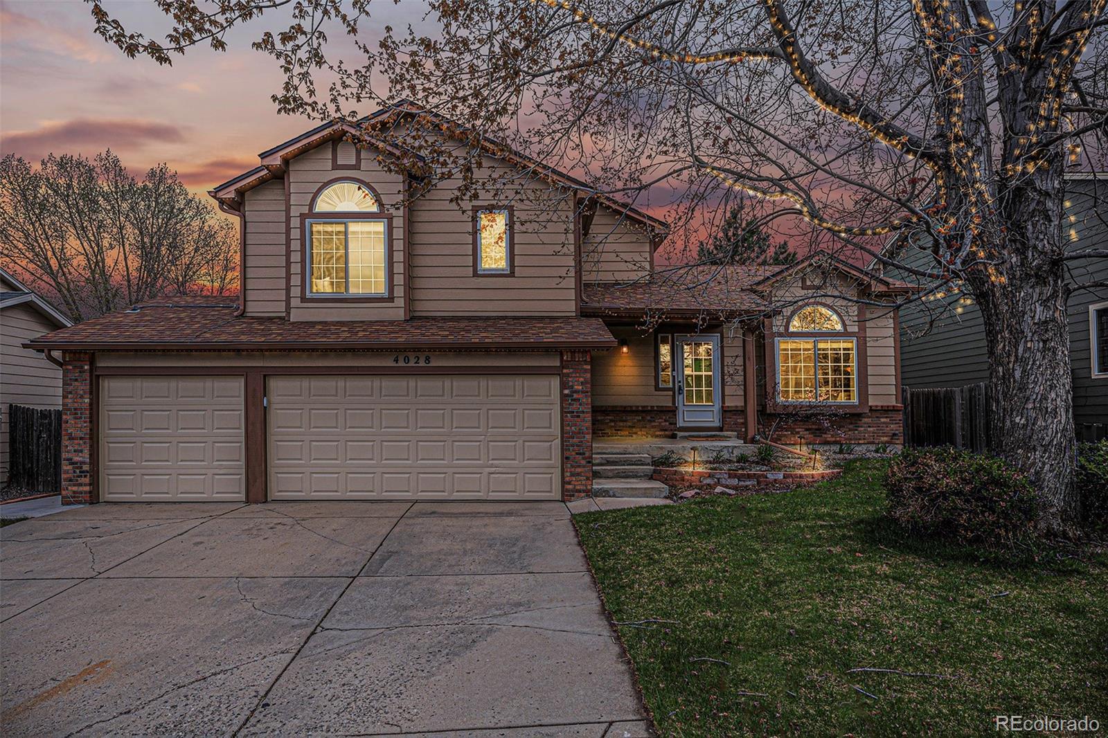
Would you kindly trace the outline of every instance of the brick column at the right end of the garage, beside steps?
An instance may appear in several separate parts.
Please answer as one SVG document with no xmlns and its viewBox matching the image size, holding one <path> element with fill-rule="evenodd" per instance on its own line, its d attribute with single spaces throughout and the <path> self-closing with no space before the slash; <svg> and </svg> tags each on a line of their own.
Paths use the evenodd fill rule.
<svg viewBox="0 0 1108 738">
<path fill-rule="evenodd" d="M 588 351 L 562 351 L 562 499 L 593 493 L 593 375 Z"/>
</svg>

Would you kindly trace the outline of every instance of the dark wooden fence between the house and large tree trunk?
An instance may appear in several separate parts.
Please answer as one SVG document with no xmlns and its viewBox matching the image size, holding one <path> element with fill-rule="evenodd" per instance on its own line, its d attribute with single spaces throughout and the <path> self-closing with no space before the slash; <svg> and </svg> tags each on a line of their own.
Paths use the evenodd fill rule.
<svg viewBox="0 0 1108 738">
<path fill-rule="evenodd" d="M 901 388 L 905 445 L 988 449 L 988 383 L 941 389 Z"/>
</svg>

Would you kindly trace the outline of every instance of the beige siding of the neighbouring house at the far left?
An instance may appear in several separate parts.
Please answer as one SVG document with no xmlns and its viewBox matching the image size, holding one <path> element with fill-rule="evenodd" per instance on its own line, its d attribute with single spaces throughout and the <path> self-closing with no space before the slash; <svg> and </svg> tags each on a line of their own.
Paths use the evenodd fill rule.
<svg viewBox="0 0 1108 738">
<path fill-rule="evenodd" d="M 28 304 L 0 311 L 0 484 L 8 481 L 8 404 L 62 407 L 62 372 L 38 351 L 22 347 L 57 326 Z"/>
</svg>

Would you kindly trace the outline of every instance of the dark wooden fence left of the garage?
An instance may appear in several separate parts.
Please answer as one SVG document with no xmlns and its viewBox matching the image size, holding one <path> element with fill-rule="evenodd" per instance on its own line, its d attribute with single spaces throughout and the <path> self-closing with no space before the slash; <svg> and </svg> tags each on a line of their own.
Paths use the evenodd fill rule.
<svg viewBox="0 0 1108 738">
<path fill-rule="evenodd" d="M 8 482 L 35 492 L 62 489 L 62 411 L 8 406 Z"/>
</svg>

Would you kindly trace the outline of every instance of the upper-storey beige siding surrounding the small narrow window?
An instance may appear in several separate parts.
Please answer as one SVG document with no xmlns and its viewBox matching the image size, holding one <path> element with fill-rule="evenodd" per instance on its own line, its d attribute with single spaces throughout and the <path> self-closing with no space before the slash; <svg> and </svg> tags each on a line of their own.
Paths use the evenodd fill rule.
<svg viewBox="0 0 1108 738">
<path fill-rule="evenodd" d="M 517 172 L 486 160 L 499 182 Z M 536 182 L 510 193 L 450 202 L 459 182 L 439 183 L 411 205 L 412 315 L 573 315 L 574 213 L 571 193 Z M 490 186 L 486 189 L 494 189 Z M 511 276 L 473 275 L 473 206 L 513 208 Z"/>
</svg>

